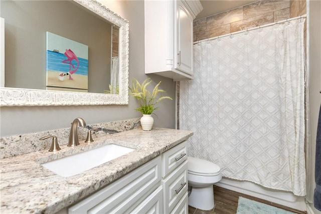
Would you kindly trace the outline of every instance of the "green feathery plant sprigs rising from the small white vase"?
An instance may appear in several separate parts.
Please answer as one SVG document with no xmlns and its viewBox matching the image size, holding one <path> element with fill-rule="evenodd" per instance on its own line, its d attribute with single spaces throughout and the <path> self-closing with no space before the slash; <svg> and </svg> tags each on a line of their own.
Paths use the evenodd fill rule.
<svg viewBox="0 0 321 214">
<path fill-rule="evenodd" d="M 150 78 L 147 78 L 140 85 L 139 82 L 135 78 L 133 78 L 132 88 L 129 87 L 129 90 L 130 90 L 129 94 L 132 97 L 135 97 L 139 103 L 139 107 L 136 108 L 135 110 L 140 111 L 142 114 L 151 114 L 154 110 L 157 109 L 155 105 L 164 99 L 173 100 L 171 97 L 162 96 L 162 94 L 159 94 L 159 97 L 157 97 L 158 93 L 165 92 L 162 89 L 158 89 L 158 86 L 161 84 L 161 81 L 154 87 L 154 89 L 152 90 L 152 93 L 150 93 L 146 89 L 146 87 L 152 82 L 152 81 L 149 81 L 149 79 Z"/>
</svg>

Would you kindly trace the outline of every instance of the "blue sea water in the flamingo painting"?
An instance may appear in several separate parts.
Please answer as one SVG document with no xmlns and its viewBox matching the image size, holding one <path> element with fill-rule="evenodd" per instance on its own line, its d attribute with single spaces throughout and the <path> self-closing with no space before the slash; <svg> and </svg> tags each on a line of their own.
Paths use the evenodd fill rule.
<svg viewBox="0 0 321 214">
<path fill-rule="evenodd" d="M 67 57 L 63 53 L 53 52 L 47 50 L 47 70 L 52 71 L 69 71 L 69 63 L 62 63 L 63 60 L 66 60 Z M 88 76 L 88 60 L 79 58 L 79 68 L 75 74 L 81 74 Z M 72 60 L 71 63 L 77 67 L 76 60 Z"/>
</svg>

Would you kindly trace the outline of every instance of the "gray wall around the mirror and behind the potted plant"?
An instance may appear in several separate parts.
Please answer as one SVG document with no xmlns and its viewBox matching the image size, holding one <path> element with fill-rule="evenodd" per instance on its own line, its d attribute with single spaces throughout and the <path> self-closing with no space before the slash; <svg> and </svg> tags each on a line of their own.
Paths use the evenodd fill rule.
<svg viewBox="0 0 321 214">
<path fill-rule="evenodd" d="M 105 1 L 115 13 L 129 21 L 129 84 L 132 78 L 143 81 L 153 80 L 153 86 L 162 81 L 161 88 L 175 99 L 173 80 L 157 75 L 144 74 L 144 2 Z M 110 6 L 109 6 L 110 4 Z M 129 105 L 109 106 L 41 106 L 41 107 L 1 107 L 1 136 L 68 128 L 76 117 L 82 117 L 87 124 L 123 120 L 140 117 L 134 109 L 137 102 L 129 97 Z M 175 128 L 175 100 L 166 100 L 155 111 L 154 126 Z"/>
</svg>

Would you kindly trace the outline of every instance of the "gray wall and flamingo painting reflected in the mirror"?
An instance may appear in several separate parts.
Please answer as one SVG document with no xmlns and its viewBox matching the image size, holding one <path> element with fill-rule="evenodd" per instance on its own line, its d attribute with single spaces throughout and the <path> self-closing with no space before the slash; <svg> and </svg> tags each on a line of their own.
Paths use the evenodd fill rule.
<svg viewBox="0 0 321 214">
<path fill-rule="evenodd" d="M 71 1 L 2 1 L 1 9 L 6 22 L 5 87 L 82 92 L 87 91 L 88 84 L 88 92 L 92 93 L 103 93 L 108 88 L 111 83 L 111 23 Z M 46 38 L 46 32 L 55 38 Z M 74 44 L 88 46 L 87 59 Z M 69 50 L 73 56 L 78 56 L 80 65 L 69 61 Z M 51 52 L 47 55 L 49 59 L 46 59 L 46 51 Z M 46 63 L 51 57 L 55 57 L 55 66 Z M 84 67 L 87 73 L 82 72 Z M 64 75 L 74 72 L 68 76 L 75 77 L 59 79 L 61 72 Z M 77 87 L 84 78 L 86 86 Z M 46 85 L 46 80 L 52 81 Z"/>
</svg>

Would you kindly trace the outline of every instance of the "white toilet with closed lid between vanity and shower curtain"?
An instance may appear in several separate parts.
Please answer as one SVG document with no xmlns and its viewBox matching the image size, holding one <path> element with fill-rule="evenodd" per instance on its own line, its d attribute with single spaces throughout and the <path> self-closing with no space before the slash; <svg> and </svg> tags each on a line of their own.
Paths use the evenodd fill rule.
<svg viewBox="0 0 321 214">
<path fill-rule="evenodd" d="M 187 157 L 189 206 L 210 210 L 214 208 L 213 184 L 222 179 L 221 168 L 208 160 Z M 192 188 L 191 188 L 192 187 Z"/>
</svg>

